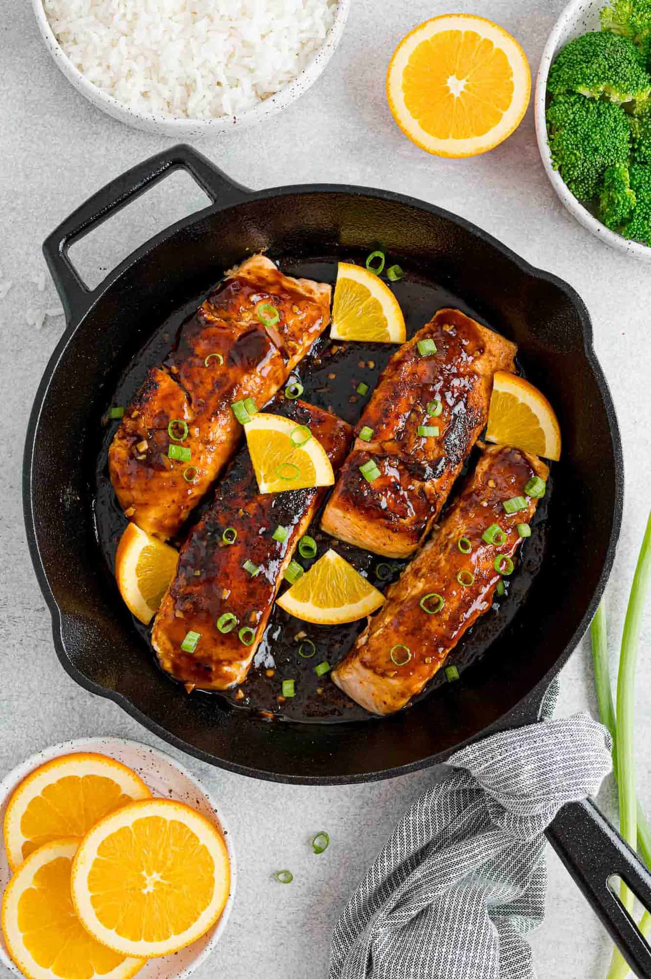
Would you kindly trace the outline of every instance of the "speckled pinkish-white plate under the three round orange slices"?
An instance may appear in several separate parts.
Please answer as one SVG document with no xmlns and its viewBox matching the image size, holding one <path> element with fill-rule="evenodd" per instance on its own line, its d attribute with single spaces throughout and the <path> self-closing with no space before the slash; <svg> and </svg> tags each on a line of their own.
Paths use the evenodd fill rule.
<svg viewBox="0 0 651 979">
<path fill-rule="evenodd" d="M 210 819 L 222 831 L 231 862 L 231 893 L 221 917 L 210 931 L 193 945 L 188 946 L 187 949 L 182 949 L 181 952 L 176 952 L 172 956 L 150 959 L 138 973 L 138 979 L 184 979 L 184 977 L 191 975 L 197 965 L 210 955 L 219 941 L 233 907 L 237 879 L 233 839 L 224 822 L 224 817 L 218 813 L 215 800 L 192 772 L 179 765 L 169 755 L 165 755 L 149 745 L 139 744 L 137 741 L 104 737 L 65 741 L 64 744 L 56 744 L 52 748 L 45 748 L 38 754 L 32 755 L 31 758 L 22 762 L 22 765 L 10 771 L 2 779 L 0 782 L 0 821 L 5 817 L 5 809 L 12 792 L 30 771 L 37 769 L 39 765 L 43 765 L 53 758 L 58 758 L 60 755 L 78 754 L 83 751 L 109 755 L 109 758 L 122 762 L 140 775 L 152 789 L 154 796 L 177 799 L 179 802 L 187 803 L 198 813 Z M 0 846 L 0 898 L 4 893 L 10 875 L 4 847 Z M 1 933 L 0 962 L 11 969 L 15 975 L 22 975 L 9 957 Z"/>
</svg>

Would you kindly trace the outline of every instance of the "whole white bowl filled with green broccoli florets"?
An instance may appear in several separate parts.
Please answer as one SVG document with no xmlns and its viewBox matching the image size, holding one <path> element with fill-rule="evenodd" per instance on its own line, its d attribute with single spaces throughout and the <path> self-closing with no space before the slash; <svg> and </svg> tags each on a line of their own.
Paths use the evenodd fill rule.
<svg viewBox="0 0 651 979">
<path fill-rule="evenodd" d="M 565 207 L 651 261 L 651 0 L 572 0 L 536 83 L 542 163 Z"/>
</svg>

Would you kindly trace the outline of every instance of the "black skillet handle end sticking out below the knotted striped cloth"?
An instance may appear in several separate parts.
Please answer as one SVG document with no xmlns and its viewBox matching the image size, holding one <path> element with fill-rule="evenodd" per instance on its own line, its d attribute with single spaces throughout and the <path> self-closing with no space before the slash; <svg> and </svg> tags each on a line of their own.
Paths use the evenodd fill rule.
<svg viewBox="0 0 651 979">
<path fill-rule="evenodd" d="M 630 968 L 651 979 L 651 949 L 610 882 L 620 876 L 638 901 L 651 909 L 651 873 L 589 801 L 564 806 L 546 835 Z"/>
</svg>

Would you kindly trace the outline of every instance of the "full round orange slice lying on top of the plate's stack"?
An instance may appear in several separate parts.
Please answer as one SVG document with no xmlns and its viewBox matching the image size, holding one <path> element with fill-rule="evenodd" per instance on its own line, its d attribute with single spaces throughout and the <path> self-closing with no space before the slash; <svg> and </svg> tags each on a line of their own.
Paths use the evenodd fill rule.
<svg viewBox="0 0 651 979">
<path fill-rule="evenodd" d="M 79 920 L 98 942 L 122 956 L 167 956 L 212 927 L 231 871 L 212 822 L 184 803 L 149 799 L 91 829 L 70 884 Z"/>
</svg>

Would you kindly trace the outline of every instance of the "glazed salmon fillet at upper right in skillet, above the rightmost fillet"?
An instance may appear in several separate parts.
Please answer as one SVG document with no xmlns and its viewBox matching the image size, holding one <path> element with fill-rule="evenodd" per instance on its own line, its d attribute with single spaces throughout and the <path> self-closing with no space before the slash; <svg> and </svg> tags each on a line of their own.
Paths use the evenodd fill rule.
<svg viewBox="0 0 651 979">
<path fill-rule="evenodd" d="M 434 341 L 435 353 L 418 344 Z M 426 536 L 488 419 L 497 370 L 516 348 L 458 309 L 439 309 L 386 365 L 324 511 L 326 534 L 386 557 L 409 557 Z M 440 403 L 440 413 L 427 406 Z M 438 429 L 433 436 L 418 428 Z M 371 429 L 369 441 L 360 439 Z M 368 433 L 367 433 L 368 434 Z M 360 467 L 374 462 L 372 482 Z"/>
</svg>

